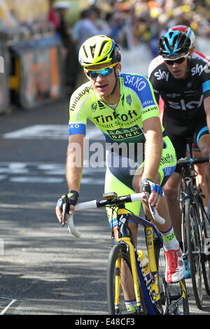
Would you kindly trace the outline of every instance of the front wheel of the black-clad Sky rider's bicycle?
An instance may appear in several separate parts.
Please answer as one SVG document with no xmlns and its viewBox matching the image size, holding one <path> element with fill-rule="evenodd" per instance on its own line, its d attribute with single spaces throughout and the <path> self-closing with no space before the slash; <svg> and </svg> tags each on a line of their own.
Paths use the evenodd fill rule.
<svg viewBox="0 0 210 329">
<path fill-rule="evenodd" d="M 200 216 L 195 202 L 186 199 L 185 206 L 187 254 L 193 293 L 198 309 L 202 309 L 202 236 Z"/>
</svg>

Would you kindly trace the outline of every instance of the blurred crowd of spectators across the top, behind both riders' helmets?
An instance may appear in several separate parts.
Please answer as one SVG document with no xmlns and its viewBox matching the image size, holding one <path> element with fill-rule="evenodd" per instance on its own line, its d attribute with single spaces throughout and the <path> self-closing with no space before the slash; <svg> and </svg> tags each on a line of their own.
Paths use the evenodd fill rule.
<svg viewBox="0 0 210 329">
<path fill-rule="evenodd" d="M 49 36 L 59 40 L 62 48 L 60 62 L 64 66 L 61 75 L 68 96 L 85 78 L 78 64 L 78 50 L 90 36 L 106 34 L 127 52 L 131 50 L 130 54 L 141 45 L 140 59 L 141 55 L 150 59 L 158 55 L 160 36 L 174 25 L 190 26 L 195 36 L 205 38 L 207 45 L 210 37 L 210 0 L 78 0 L 77 6 L 78 3 L 86 4 L 79 16 L 74 12 L 73 0 L 43 2 L 45 15 L 41 12 L 40 17 L 31 23 L 18 19 L 14 9 L 17 7 L 11 10 L 9 1 L 0 0 L 0 50 L 5 45 L 13 57 L 13 45 L 22 43 L 26 52 L 31 47 L 30 41 L 42 39 L 43 47 Z M 73 21 L 69 20 L 69 13 L 71 17 L 75 16 Z M 48 46 L 47 41 L 45 45 Z M 7 55 L 0 55 L 6 61 Z M 206 51 L 204 55 L 209 56 Z"/>
</svg>

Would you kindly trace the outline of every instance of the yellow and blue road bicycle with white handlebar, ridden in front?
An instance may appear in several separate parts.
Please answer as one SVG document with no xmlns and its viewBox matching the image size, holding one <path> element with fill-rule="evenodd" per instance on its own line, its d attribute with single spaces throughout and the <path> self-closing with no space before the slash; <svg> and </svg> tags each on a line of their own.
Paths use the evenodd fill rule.
<svg viewBox="0 0 210 329">
<path fill-rule="evenodd" d="M 109 314 L 130 314 L 125 308 L 125 297 L 133 298 L 134 314 L 165 315 L 189 314 L 188 294 L 185 280 L 168 284 L 165 281 L 165 254 L 162 237 L 151 221 L 134 216 L 125 208 L 125 203 L 141 201 L 141 193 L 118 197 L 116 193 L 103 195 L 100 200 L 76 204 L 76 211 L 99 207 L 113 207 L 118 211 L 119 241 L 113 238 L 113 246 L 109 253 L 106 273 L 106 290 Z M 156 209 L 151 208 L 155 221 L 164 223 Z M 65 218 L 65 209 L 63 211 Z M 151 280 L 144 272 L 139 253 L 132 239 L 128 221 L 132 218 L 143 225 L 148 253 L 148 264 L 151 269 Z M 65 223 L 63 221 L 63 223 Z M 73 216 L 67 216 L 69 232 L 80 237 L 73 223 Z M 126 277 L 126 280 L 125 280 Z M 127 295 L 126 295 L 127 294 Z"/>
</svg>

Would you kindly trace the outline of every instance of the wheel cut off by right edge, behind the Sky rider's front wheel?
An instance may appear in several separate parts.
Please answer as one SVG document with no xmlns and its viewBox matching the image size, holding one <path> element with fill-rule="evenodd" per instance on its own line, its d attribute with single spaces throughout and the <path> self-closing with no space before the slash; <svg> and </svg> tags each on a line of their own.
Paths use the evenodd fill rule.
<svg viewBox="0 0 210 329">
<path fill-rule="evenodd" d="M 204 278 L 204 286 L 207 295 L 210 295 L 210 260 L 204 254 L 204 241 L 209 237 L 207 230 L 207 214 L 204 210 L 204 204 L 202 202 L 201 196 L 199 196 L 198 207 L 200 209 L 201 215 L 201 226 L 202 226 L 202 273 Z"/>
</svg>

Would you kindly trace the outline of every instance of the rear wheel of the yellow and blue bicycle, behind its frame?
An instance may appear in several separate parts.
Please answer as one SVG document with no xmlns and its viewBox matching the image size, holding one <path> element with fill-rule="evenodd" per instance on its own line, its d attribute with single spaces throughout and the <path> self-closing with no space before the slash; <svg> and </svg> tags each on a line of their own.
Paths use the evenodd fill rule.
<svg viewBox="0 0 210 329">
<path fill-rule="evenodd" d="M 167 283 L 165 281 L 165 251 L 156 238 L 154 239 L 154 247 L 164 315 L 189 315 L 190 309 L 185 280 L 182 279 L 177 283 Z"/>
</svg>

